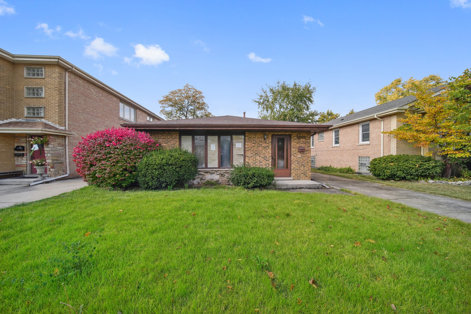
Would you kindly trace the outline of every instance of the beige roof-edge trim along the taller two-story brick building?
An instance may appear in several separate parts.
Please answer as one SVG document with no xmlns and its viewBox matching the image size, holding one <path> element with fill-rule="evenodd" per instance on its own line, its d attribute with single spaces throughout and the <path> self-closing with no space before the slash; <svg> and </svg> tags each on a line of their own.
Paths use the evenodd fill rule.
<svg viewBox="0 0 471 314">
<path fill-rule="evenodd" d="M 4 59 L 7 59 L 8 61 L 13 62 L 13 63 L 59 64 L 60 66 L 62 66 L 63 68 L 65 68 L 67 70 L 72 70 L 72 68 L 73 68 L 73 71 L 71 71 L 71 72 L 73 72 L 74 74 L 80 76 L 82 79 L 84 79 L 86 81 L 89 81 L 90 83 L 98 86 L 101 89 L 106 90 L 110 94 L 118 97 L 120 100 L 123 100 L 124 102 L 128 103 L 129 105 L 134 105 L 134 106 L 138 107 L 140 110 L 144 111 L 145 113 L 147 113 L 151 116 L 154 116 L 156 119 L 159 119 L 161 121 L 164 120 L 162 117 L 160 117 L 157 114 L 153 113 L 152 111 L 148 110 L 146 107 L 143 107 L 142 105 L 139 105 L 138 103 L 136 103 L 132 99 L 124 96 L 123 94 L 121 94 L 117 90 L 112 89 L 111 87 L 109 87 L 108 85 L 103 83 L 102 81 L 97 80 L 96 78 L 91 76 L 89 73 L 81 70 L 80 68 L 76 67 L 75 65 L 71 64 L 70 62 L 68 62 L 67 60 L 63 59 L 60 56 L 13 55 L 13 54 L 9 53 L 8 51 L 3 50 L 3 49 L 0 48 L 0 57 L 2 57 Z"/>
</svg>

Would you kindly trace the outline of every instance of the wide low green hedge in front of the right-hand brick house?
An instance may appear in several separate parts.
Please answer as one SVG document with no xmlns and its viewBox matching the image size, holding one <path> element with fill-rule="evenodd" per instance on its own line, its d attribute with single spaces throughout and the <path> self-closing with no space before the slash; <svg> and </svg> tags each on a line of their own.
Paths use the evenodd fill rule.
<svg viewBox="0 0 471 314">
<path fill-rule="evenodd" d="M 418 180 L 438 176 L 445 164 L 421 155 L 386 155 L 370 161 L 368 169 L 380 179 Z"/>
</svg>

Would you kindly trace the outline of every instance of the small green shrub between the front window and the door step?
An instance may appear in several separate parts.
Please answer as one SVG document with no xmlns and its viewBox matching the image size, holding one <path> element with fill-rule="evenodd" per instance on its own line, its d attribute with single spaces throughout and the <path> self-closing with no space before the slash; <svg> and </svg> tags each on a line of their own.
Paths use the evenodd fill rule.
<svg viewBox="0 0 471 314">
<path fill-rule="evenodd" d="M 245 188 L 268 186 L 275 179 L 272 168 L 252 167 L 249 164 L 233 166 L 229 180 L 233 185 Z"/>
</svg>

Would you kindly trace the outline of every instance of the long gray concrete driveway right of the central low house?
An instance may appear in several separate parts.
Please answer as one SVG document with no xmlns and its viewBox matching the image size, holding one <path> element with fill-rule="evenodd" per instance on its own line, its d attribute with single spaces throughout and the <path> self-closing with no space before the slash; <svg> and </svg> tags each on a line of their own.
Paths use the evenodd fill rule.
<svg viewBox="0 0 471 314">
<path fill-rule="evenodd" d="M 335 188 L 347 189 L 367 196 L 395 201 L 416 209 L 471 223 L 471 202 L 468 201 L 455 200 L 445 196 L 414 192 L 397 187 L 326 175 L 323 173 L 312 173 L 311 177 L 323 184 L 327 181 L 329 186 Z"/>
</svg>

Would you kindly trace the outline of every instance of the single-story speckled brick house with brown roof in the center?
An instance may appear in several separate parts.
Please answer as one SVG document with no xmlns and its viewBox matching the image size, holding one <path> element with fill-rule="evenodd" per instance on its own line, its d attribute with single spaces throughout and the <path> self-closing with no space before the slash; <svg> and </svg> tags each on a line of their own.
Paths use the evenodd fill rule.
<svg viewBox="0 0 471 314">
<path fill-rule="evenodd" d="M 124 123 L 163 147 L 180 146 L 199 160 L 194 184 L 228 183 L 231 165 L 275 167 L 275 177 L 310 180 L 309 139 L 325 125 L 236 116 Z"/>
</svg>

